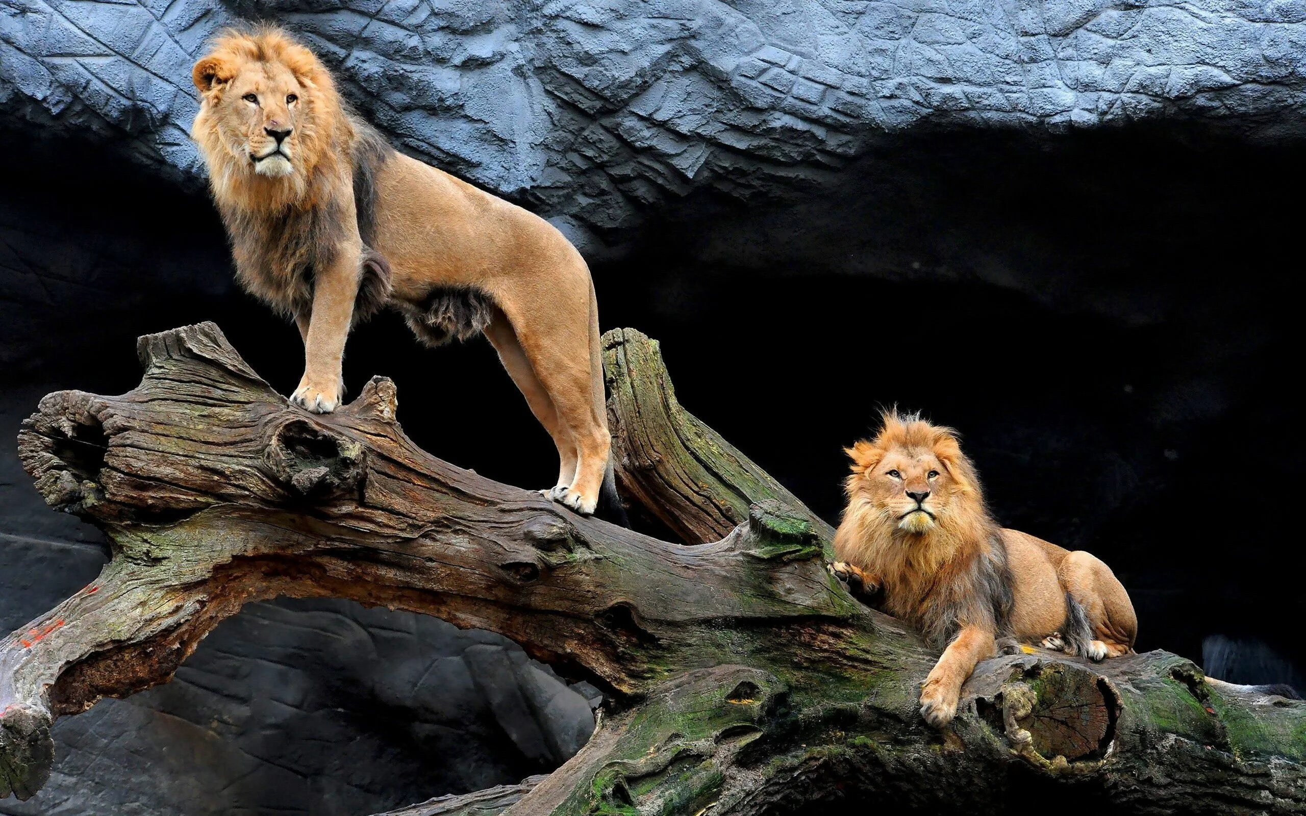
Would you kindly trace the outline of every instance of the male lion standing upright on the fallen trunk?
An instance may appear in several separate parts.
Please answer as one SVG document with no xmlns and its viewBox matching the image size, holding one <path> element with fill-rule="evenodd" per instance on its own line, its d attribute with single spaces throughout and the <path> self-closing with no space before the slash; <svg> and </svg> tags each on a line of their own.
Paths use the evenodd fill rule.
<svg viewBox="0 0 1306 816">
<path fill-rule="evenodd" d="M 615 503 L 594 286 L 562 232 L 393 150 L 279 29 L 223 33 L 192 78 L 238 278 L 303 336 L 291 401 L 341 403 L 350 326 L 385 304 L 431 346 L 485 333 L 558 447 L 545 495 Z"/>
</svg>

